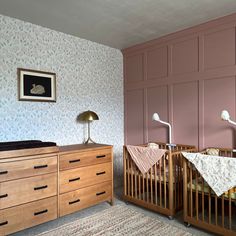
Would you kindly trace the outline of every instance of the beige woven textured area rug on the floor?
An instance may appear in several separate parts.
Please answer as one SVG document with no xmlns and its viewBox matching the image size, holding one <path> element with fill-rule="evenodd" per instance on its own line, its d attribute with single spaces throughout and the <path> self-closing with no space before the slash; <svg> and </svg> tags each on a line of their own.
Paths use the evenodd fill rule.
<svg viewBox="0 0 236 236">
<path fill-rule="evenodd" d="M 159 219 L 146 216 L 125 205 L 116 205 L 92 216 L 62 225 L 40 236 L 140 236 L 192 235 Z"/>
</svg>

